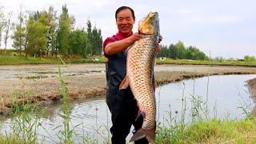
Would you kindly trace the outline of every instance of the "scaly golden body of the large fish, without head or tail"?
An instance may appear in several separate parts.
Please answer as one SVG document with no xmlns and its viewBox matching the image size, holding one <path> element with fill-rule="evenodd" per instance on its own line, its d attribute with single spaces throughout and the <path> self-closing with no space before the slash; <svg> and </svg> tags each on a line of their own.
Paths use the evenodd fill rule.
<svg viewBox="0 0 256 144">
<path fill-rule="evenodd" d="M 155 98 L 153 89 L 154 58 L 158 36 L 142 36 L 134 43 L 127 56 L 127 75 L 130 88 L 146 117 L 142 128 L 155 128 Z"/>
</svg>

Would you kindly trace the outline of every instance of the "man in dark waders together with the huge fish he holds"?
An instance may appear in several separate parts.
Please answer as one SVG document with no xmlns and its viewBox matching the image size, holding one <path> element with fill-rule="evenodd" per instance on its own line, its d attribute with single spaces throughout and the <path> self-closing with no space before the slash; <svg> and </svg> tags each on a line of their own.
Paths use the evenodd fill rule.
<svg viewBox="0 0 256 144">
<path fill-rule="evenodd" d="M 103 52 L 106 62 L 106 103 L 113 126 L 111 142 L 126 143 L 130 126 L 131 142 L 154 143 L 155 100 L 154 58 L 161 49 L 158 13 L 150 13 L 133 33 L 134 10 L 121 6 L 115 13 L 118 34 L 106 38 Z M 128 56 L 127 56 L 128 55 Z"/>
</svg>

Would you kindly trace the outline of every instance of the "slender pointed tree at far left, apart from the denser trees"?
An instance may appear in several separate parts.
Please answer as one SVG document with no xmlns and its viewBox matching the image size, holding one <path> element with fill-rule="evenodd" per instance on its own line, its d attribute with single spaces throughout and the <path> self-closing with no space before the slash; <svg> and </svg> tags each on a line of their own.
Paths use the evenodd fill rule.
<svg viewBox="0 0 256 144">
<path fill-rule="evenodd" d="M 25 14 L 22 12 L 22 6 L 20 6 L 20 12 L 18 14 L 18 24 L 14 26 L 14 34 L 12 35 L 13 47 L 19 51 L 19 54 L 22 55 L 22 50 L 26 49 L 26 27 L 24 26 L 24 19 L 26 18 Z"/>
</svg>

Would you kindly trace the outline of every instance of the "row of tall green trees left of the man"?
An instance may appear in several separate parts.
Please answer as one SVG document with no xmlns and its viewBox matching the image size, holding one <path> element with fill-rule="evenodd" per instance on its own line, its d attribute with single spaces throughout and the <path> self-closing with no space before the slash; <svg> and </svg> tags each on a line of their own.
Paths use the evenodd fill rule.
<svg viewBox="0 0 256 144">
<path fill-rule="evenodd" d="M 11 23 L 9 13 L 6 17 L 0 7 L 0 40 L 4 34 L 4 50 L 8 38 L 13 39 L 12 46 L 20 54 L 25 51 L 28 55 L 42 58 L 86 58 L 88 54 L 102 54 L 102 31 L 96 26 L 92 27 L 90 19 L 86 22 L 86 28 L 75 29 L 75 18 L 69 14 L 66 5 L 62 6 L 62 13 L 57 16 L 53 6 L 42 11 L 20 11 L 18 23 Z M 10 30 L 13 34 L 9 36 Z M 0 42 L 1 47 L 1 42 Z"/>
</svg>

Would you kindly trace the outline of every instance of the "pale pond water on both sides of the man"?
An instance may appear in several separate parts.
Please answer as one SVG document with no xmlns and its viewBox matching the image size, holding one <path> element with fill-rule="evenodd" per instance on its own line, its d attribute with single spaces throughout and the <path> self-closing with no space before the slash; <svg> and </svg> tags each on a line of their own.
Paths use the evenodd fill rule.
<svg viewBox="0 0 256 144">
<path fill-rule="evenodd" d="M 200 105 L 202 110 L 199 111 L 204 114 L 206 104 L 203 103 L 206 103 L 207 98 L 210 118 L 244 118 L 246 115 L 238 107 L 254 108 L 253 100 L 245 85 L 247 80 L 255 77 L 255 74 L 210 76 L 158 86 L 156 90 L 157 119 L 159 122 L 165 122 L 165 118 L 170 117 L 170 112 L 180 118 L 182 98 L 183 102 L 186 102 L 186 122 L 191 119 L 192 100 L 198 100 L 194 103 L 202 102 Z M 2 132 L 10 131 L 10 122 L 10 118 L 4 120 Z M 56 103 L 47 107 L 47 113 L 41 122 L 42 126 L 38 129 L 39 142 L 58 142 L 58 132 L 63 129 L 62 104 Z M 108 133 L 111 126 L 110 112 L 106 106 L 105 96 L 70 101 L 70 124 L 74 126 L 75 134 L 79 135 L 76 137 L 78 141 L 81 141 L 80 137 L 84 137 L 84 134 L 98 139 L 102 139 L 101 135 L 104 137 L 110 135 Z M 130 136 L 131 134 L 127 139 L 130 139 Z"/>
</svg>

